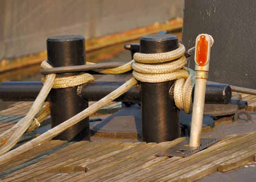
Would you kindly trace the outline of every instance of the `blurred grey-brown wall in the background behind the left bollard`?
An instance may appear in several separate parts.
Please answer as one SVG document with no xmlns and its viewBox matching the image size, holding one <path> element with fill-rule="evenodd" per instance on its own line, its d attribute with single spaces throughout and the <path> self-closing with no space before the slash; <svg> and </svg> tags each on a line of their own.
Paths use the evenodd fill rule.
<svg viewBox="0 0 256 182">
<path fill-rule="evenodd" d="M 46 49 L 46 38 L 86 40 L 183 16 L 180 0 L 0 0 L 0 60 Z"/>
</svg>

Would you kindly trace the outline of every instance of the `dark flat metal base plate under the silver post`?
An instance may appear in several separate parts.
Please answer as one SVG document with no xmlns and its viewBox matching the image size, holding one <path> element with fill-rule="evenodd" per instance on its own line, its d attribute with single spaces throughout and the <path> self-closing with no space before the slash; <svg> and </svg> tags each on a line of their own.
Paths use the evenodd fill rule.
<svg viewBox="0 0 256 182">
<path fill-rule="evenodd" d="M 189 139 L 182 141 L 180 144 L 177 144 L 176 146 L 170 147 L 166 149 L 165 151 L 162 151 L 160 153 L 157 153 L 157 157 L 161 156 L 167 156 L 167 157 L 188 157 L 189 155 L 192 155 L 193 153 L 199 152 L 216 142 L 220 141 L 220 139 L 214 139 L 214 138 L 201 138 L 201 145 L 199 147 L 189 147 Z"/>
</svg>

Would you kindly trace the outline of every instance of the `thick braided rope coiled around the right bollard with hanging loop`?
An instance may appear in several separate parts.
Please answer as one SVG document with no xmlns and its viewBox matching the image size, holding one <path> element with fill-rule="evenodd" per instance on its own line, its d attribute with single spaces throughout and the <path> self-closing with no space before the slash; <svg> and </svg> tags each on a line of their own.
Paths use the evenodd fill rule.
<svg viewBox="0 0 256 182">
<path fill-rule="evenodd" d="M 148 82 L 160 83 L 176 80 L 174 85 L 174 101 L 179 109 L 185 113 L 192 111 L 192 71 L 185 68 L 185 47 L 179 44 L 178 48 L 167 53 L 158 54 L 134 54 L 132 63 L 133 76 L 135 79 Z M 189 74 L 190 73 L 190 74 Z"/>
</svg>

